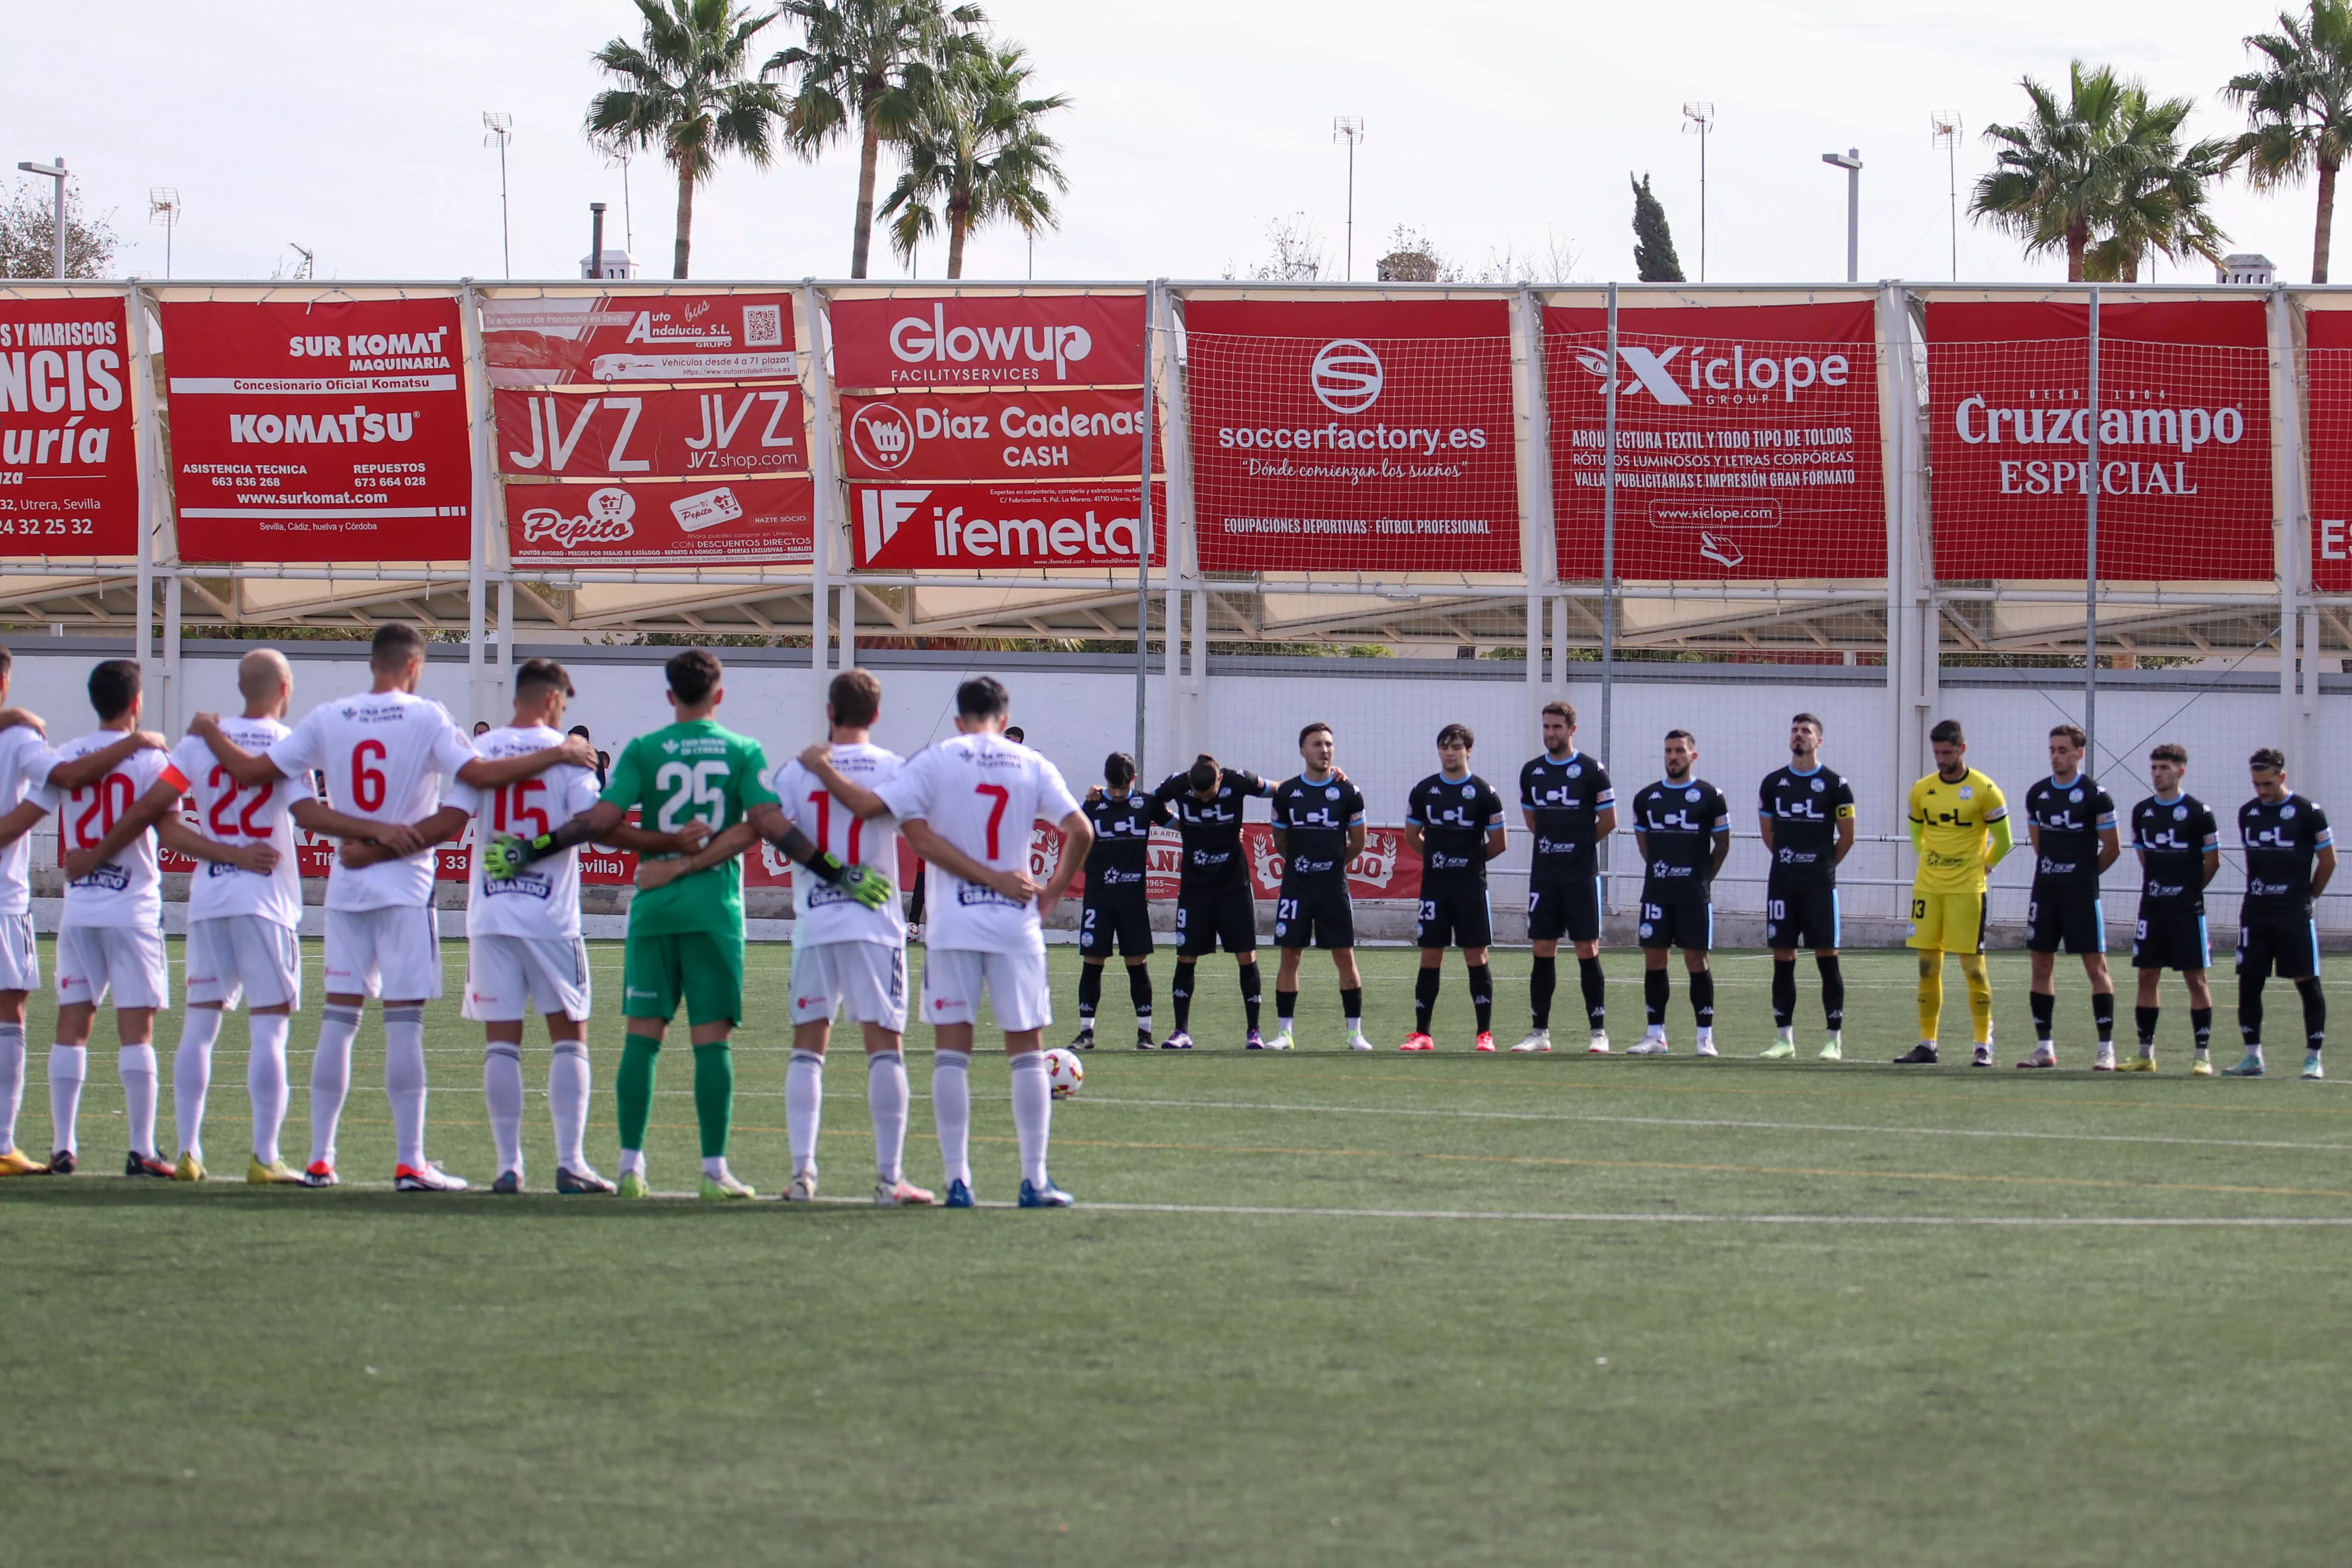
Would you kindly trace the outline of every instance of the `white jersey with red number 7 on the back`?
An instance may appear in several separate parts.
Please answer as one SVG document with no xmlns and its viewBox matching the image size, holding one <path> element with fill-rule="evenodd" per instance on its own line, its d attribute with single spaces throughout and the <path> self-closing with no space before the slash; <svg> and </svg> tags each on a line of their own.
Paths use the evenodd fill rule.
<svg viewBox="0 0 2352 1568">
<path fill-rule="evenodd" d="M 1077 811 L 1061 769 L 985 731 L 927 745 L 875 795 L 901 823 L 920 816 L 948 844 L 1000 872 L 1030 870 L 1030 823 L 1061 823 Z M 1014 903 L 943 865 L 931 865 L 927 875 L 927 947 L 1044 952 L 1035 898 Z"/>
</svg>

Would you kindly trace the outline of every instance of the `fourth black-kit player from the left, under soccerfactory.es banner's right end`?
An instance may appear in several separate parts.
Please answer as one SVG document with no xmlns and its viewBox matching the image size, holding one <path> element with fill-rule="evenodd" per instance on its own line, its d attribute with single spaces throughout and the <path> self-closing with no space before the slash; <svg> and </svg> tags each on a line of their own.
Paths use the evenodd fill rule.
<svg viewBox="0 0 2352 1568">
<path fill-rule="evenodd" d="M 1477 1048 L 1494 1051 L 1494 910 L 1486 905 L 1486 863 L 1503 853 L 1503 797 L 1470 771 L 1468 724 L 1437 731 L 1437 764 L 1414 785 L 1404 806 L 1404 846 L 1421 856 L 1421 973 L 1414 976 L 1414 1032 L 1399 1051 L 1435 1051 L 1430 1013 L 1446 947 L 1470 966 L 1470 1006 Z"/>
</svg>

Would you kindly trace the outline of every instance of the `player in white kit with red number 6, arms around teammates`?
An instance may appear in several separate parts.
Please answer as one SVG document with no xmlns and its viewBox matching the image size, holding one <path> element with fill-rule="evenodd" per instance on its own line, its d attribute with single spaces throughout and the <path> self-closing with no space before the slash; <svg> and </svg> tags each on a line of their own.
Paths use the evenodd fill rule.
<svg viewBox="0 0 2352 1568">
<path fill-rule="evenodd" d="M 327 776 L 327 804 L 360 818 L 393 860 L 336 863 L 327 877 L 327 1009 L 310 1063 L 310 1164 L 303 1185 L 334 1187 L 334 1133 L 350 1093 L 350 1041 L 367 997 L 383 997 L 383 1091 L 393 1103 L 400 1192 L 463 1192 L 466 1182 L 426 1159 L 426 1001 L 442 994 L 440 931 L 433 914 L 433 849 L 416 823 L 440 806 L 440 780 L 499 790 L 557 762 L 590 766 L 583 741 L 489 762 L 449 712 L 416 696 L 426 639 L 407 623 L 376 630 L 369 691 L 320 703 L 268 752 L 249 752 L 212 715 L 193 726 L 221 766 L 245 785 Z"/>
</svg>

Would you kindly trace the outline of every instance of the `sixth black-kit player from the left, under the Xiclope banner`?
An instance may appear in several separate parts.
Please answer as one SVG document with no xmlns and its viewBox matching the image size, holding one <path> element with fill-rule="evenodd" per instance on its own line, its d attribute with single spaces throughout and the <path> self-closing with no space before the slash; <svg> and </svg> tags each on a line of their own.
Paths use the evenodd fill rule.
<svg viewBox="0 0 2352 1568">
<path fill-rule="evenodd" d="M 1724 792 L 1691 773 L 1698 738 L 1686 729 L 1665 731 L 1665 778 L 1632 797 L 1632 832 L 1642 846 L 1642 1001 L 1649 1030 L 1628 1056 L 1665 1056 L 1665 950 L 1682 947 L 1691 971 L 1691 1016 L 1698 1018 L 1698 1053 L 1715 1056 L 1715 872 L 1731 853 L 1731 804 Z"/>
</svg>

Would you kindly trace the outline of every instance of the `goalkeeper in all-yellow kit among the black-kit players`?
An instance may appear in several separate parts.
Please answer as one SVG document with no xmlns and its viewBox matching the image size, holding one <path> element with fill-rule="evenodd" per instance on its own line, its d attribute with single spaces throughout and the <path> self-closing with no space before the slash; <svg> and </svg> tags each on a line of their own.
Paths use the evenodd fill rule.
<svg viewBox="0 0 2352 1568">
<path fill-rule="evenodd" d="M 1910 827 L 1919 851 L 1912 879 L 1912 933 L 1919 950 L 1919 1044 L 1896 1063 L 1936 1060 L 1936 1020 L 1943 1016 L 1943 954 L 1959 957 L 1969 978 L 1969 1023 L 1976 1025 L 1973 1067 L 1992 1065 L 1992 978 L 1985 973 L 1985 872 L 2011 849 L 2009 802 L 2002 785 L 1969 766 L 1959 719 L 1929 731 L 1936 771 L 1912 785 Z"/>
</svg>

